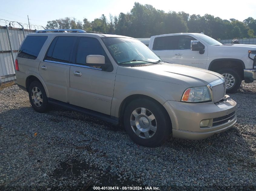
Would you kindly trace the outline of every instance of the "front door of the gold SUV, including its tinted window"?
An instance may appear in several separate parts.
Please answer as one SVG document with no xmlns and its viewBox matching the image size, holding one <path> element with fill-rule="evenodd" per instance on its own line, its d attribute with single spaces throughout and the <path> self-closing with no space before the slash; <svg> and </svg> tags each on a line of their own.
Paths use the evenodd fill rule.
<svg viewBox="0 0 256 191">
<path fill-rule="evenodd" d="M 69 103 L 110 115 L 116 71 L 106 72 L 98 67 L 87 66 L 88 55 L 105 56 L 106 64 L 111 64 L 96 38 L 78 38 L 77 51 L 74 52 L 75 58 L 72 59 L 69 72 Z"/>
</svg>

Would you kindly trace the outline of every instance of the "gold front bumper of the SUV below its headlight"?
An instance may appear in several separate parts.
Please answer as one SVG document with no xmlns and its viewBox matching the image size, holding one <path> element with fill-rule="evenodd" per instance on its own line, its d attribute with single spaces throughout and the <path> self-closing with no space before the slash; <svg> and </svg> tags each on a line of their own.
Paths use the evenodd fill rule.
<svg viewBox="0 0 256 191">
<path fill-rule="evenodd" d="M 236 102 L 228 95 L 226 97 L 226 101 L 217 103 L 165 102 L 164 107 L 172 121 L 173 137 L 198 140 L 231 128 L 237 121 Z M 200 122 L 205 119 L 210 120 L 209 126 L 200 127 Z"/>
</svg>

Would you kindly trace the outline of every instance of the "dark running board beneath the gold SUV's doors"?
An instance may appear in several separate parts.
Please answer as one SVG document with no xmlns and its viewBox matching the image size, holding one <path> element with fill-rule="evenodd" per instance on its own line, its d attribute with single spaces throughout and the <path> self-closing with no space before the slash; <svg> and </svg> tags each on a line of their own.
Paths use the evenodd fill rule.
<svg viewBox="0 0 256 191">
<path fill-rule="evenodd" d="M 104 114 L 104 113 L 100 113 L 100 112 L 89 110 L 89 109 L 86 109 L 86 108 L 83 108 L 83 107 L 71 105 L 69 103 L 58 101 L 58 100 L 55 100 L 55 99 L 52 99 L 52 98 L 48 98 L 48 103 L 63 107 L 67 110 L 72 110 L 72 111 L 77 111 L 77 112 L 80 112 L 80 113 L 84 113 L 85 115 L 92 116 L 92 117 L 101 119 L 103 121 L 107 121 L 107 122 L 114 123 L 114 124 L 119 124 L 119 118 L 114 117 L 114 116 L 110 116 L 110 115 L 107 115 L 107 114 Z"/>
</svg>

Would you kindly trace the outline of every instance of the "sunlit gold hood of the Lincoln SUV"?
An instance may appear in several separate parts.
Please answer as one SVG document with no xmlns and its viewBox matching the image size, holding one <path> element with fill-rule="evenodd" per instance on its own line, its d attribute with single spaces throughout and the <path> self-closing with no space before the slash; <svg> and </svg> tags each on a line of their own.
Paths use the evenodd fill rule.
<svg viewBox="0 0 256 191">
<path fill-rule="evenodd" d="M 117 74 L 179 84 L 185 88 L 204 86 L 223 77 L 209 70 L 168 63 L 135 67 L 120 66 Z"/>
</svg>

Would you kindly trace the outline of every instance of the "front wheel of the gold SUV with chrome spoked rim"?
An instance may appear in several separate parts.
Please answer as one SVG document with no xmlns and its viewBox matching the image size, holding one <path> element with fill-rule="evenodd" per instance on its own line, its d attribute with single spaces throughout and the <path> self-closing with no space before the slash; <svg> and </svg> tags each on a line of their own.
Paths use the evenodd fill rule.
<svg viewBox="0 0 256 191">
<path fill-rule="evenodd" d="M 133 100 L 125 108 L 124 126 L 131 140 L 138 145 L 156 147 L 171 134 L 171 121 L 164 110 L 152 100 Z"/>
</svg>

